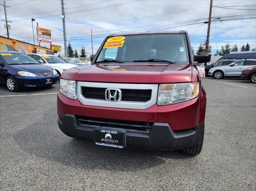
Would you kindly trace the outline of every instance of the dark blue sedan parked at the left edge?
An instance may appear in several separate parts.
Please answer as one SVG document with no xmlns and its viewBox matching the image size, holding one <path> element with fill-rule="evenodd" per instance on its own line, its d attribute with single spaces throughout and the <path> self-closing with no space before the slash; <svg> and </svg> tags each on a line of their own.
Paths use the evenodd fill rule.
<svg viewBox="0 0 256 191">
<path fill-rule="evenodd" d="M 9 91 L 26 87 L 51 86 L 59 82 L 58 73 L 30 56 L 16 51 L 0 51 L 0 83 Z"/>
</svg>

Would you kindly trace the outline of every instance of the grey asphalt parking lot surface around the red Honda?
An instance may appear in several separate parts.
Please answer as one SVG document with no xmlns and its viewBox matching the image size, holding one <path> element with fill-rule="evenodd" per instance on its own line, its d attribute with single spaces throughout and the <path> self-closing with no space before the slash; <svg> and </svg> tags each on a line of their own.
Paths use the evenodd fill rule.
<svg viewBox="0 0 256 191">
<path fill-rule="evenodd" d="M 256 85 L 240 79 L 202 83 L 206 129 L 196 157 L 69 138 L 58 128 L 58 84 L 18 93 L 0 86 L 0 189 L 255 190 Z"/>
</svg>

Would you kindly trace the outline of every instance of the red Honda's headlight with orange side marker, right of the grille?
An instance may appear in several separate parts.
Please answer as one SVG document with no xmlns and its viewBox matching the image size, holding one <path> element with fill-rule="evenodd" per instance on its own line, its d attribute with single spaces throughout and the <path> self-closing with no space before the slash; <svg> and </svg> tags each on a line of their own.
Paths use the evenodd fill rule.
<svg viewBox="0 0 256 191">
<path fill-rule="evenodd" d="M 199 82 L 160 84 L 158 105 L 170 105 L 195 98 L 199 94 Z"/>
</svg>

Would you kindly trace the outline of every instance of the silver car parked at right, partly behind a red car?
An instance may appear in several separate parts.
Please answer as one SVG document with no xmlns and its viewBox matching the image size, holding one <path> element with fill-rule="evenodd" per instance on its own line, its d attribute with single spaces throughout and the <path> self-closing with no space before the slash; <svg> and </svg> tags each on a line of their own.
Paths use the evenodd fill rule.
<svg viewBox="0 0 256 191">
<path fill-rule="evenodd" d="M 215 79 L 222 79 L 224 77 L 240 77 L 242 70 L 251 66 L 256 66 L 256 59 L 238 60 L 227 66 L 214 67 L 209 70 L 208 75 Z"/>
</svg>

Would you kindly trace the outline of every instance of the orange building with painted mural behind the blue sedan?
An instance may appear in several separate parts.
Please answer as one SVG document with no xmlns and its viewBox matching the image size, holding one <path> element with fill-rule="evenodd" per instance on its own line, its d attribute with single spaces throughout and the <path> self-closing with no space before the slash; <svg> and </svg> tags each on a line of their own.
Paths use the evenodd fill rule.
<svg viewBox="0 0 256 191">
<path fill-rule="evenodd" d="M 0 36 L 0 50 L 2 51 L 19 51 L 22 53 L 54 54 L 57 51 L 41 47 L 38 45 L 22 42 L 16 39 Z"/>
</svg>

